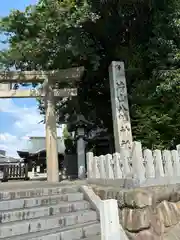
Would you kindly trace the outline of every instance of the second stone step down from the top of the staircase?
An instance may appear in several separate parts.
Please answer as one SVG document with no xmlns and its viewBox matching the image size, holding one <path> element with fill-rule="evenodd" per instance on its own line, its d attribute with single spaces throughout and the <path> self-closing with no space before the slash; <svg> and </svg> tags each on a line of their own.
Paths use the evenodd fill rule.
<svg viewBox="0 0 180 240">
<path fill-rule="evenodd" d="M 62 201 L 75 202 L 81 201 L 83 199 L 83 193 L 80 192 L 64 193 L 52 196 L 40 196 L 34 198 L 20 198 L 14 200 L 0 201 L 0 211 L 54 205 L 59 204 Z"/>
</svg>

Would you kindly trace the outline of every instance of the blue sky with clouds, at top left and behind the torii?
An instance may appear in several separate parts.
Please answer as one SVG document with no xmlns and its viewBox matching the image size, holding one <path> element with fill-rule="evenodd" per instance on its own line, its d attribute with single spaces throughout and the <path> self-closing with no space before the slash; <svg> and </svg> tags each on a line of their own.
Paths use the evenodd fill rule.
<svg viewBox="0 0 180 240">
<path fill-rule="evenodd" d="M 24 10 L 37 0 L 5 0 L 0 7 L 0 16 L 7 16 L 11 10 Z M 2 39 L 3 36 L 0 36 Z M 0 49 L 7 47 L 0 45 Z M 44 136 L 44 125 L 35 99 L 0 99 L 0 149 L 7 155 L 17 157 L 17 150 L 26 147 L 29 136 Z M 61 132 L 58 130 L 58 135 Z"/>
</svg>

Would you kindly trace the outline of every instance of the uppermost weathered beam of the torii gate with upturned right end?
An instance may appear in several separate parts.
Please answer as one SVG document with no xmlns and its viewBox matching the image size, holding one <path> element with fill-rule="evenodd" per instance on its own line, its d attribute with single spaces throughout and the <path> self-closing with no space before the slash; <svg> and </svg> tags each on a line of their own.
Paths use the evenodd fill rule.
<svg viewBox="0 0 180 240">
<path fill-rule="evenodd" d="M 84 67 L 75 67 L 53 71 L 8 71 L 0 72 L 0 82 L 43 82 L 46 79 L 51 82 L 71 82 L 78 81 L 84 72 Z"/>
</svg>

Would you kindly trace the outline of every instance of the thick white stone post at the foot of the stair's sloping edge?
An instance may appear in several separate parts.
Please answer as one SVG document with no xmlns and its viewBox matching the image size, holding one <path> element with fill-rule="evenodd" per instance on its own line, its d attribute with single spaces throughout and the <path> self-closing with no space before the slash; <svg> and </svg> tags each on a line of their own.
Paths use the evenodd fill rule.
<svg viewBox="0 0 180 240">
<path fill-rule="evenodd" d="M 117 200 L 108 199 L 100 203 L 101 240 L 120 240 L 120 223 Z"/>
</svg>

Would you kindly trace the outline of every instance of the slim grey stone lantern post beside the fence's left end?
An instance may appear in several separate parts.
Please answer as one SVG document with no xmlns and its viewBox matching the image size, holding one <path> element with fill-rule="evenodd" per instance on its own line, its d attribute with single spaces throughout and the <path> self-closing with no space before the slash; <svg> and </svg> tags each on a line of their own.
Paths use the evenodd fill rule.
<svg viewBox="0 0 180 240">
<path fill-rule="evenodd" d="M 86 178 L 84 128 L 78 128 L 77 135 L 78 178 L 84 179 Z"/>
</svg>

